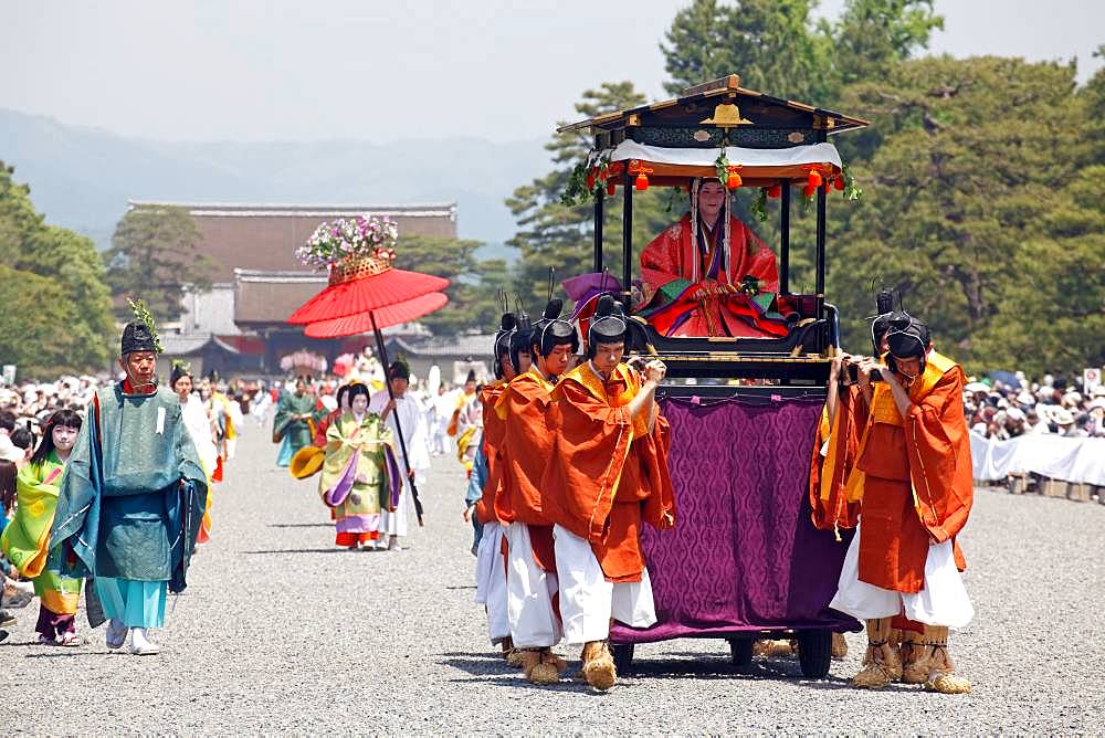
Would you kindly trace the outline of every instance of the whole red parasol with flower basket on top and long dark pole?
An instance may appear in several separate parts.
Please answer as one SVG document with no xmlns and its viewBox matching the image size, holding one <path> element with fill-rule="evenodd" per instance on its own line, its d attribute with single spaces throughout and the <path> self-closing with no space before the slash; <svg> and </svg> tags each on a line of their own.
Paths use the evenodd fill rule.
<svg viewBox="0 0 1105 738">
<path fill-rule="evenodd" d="M 372 331 L 383 366 L 388 352 L 381 328 L 414 320 L 441 308 L 449 302 L 442 292 L 449 280 L 397 270 L 396 244 L 398 225 L 387 218 L 341 218 L 323 223 L 307 242 L 296 249 L 296 257 L 307 266 L 328 270 L 326 288 L 293 313 L 287 321 L 306 326 L 313 338 L 339 338 Z M 385 382 L 391 399 L 391 382 Z M 406 467 L 410 468 L 407 442 L 394 415 L 399 449 Z M 413 477 L 410 479 L 414 512 L 422 523 L 422 503 Z"/>
</svg>

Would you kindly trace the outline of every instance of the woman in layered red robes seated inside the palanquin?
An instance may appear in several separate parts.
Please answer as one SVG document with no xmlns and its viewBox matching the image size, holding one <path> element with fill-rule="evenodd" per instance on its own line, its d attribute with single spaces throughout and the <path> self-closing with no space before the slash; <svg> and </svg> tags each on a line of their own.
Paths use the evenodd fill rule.
<svg viewBox="0 0 1105 738">
<path fill-rule="evenodd" d="M 786 336 L 769 313 L 775 253 L 738 218 L 717 179 L 691 183 L 691 211 L 641 252 L 641 314 L 665 336 Z"/>
</svg>

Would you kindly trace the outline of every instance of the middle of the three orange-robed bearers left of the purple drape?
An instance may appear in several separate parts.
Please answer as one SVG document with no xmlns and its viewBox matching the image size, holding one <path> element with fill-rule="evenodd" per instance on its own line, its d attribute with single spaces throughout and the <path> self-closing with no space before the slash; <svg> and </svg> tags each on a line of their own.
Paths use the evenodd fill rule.
<svg viewBox="0 0 1105 738">
<path fill-rule="evenodd" d="M 548 418 L 552 388 L 579 349 L 575 327 L 560 319 L 561 307 L 560 301 L 549 301 L 532 330 L 529 318 L 519 316 L 518 331 L 529 335 L 534 365 L 507 384 L 495 405 L 505 428 L 495 515 L 505 526 L 507 544 L 507 616 L 514 647 L 523 652 L 526 678 L 534 684 L 555 684 L 564 671 L 564 662 L 551 651 L 562 630 L 555 604 L 552 521 L 541 509 L 540 494 L 552 453 Z"/>
</svg>

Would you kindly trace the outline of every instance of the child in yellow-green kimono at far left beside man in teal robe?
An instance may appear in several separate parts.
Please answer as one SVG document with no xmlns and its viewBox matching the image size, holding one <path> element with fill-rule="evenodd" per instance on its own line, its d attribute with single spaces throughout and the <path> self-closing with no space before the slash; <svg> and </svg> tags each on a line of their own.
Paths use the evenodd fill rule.
<svg viewBox="0 0 1105 738">
<path fill-rule="evenodd" d="M 81 417 L 59 410 L 46 421 L 42 442 L 15 479 L 15 517 L 4 528 L 0 546 L 19 572 L 34 580 L 39 595 L 39 643 L 77 646 L 76 607 L 81 580 L 45 568 L 57 493 L 70 452 L 81 430 Z"/>
</svg>

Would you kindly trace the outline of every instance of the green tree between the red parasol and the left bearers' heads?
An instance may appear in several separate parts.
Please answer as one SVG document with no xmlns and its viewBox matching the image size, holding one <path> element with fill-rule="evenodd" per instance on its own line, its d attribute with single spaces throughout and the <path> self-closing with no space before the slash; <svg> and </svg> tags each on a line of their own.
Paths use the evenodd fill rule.
<svg viewBox="0 0 1105 738">
<path fill-rule="evenodd" d="M 434 334 L 490 333 L 498 325 L 502 310 L 497 295 L 508 282 L 506 262 L 478 259 L 481 245 L 478 241 L 427 235 L 401 239 L 397 267 L 446 277 L 452 283 L 445 291 L 449 305 L 420 318 Z"/>
</svg>

